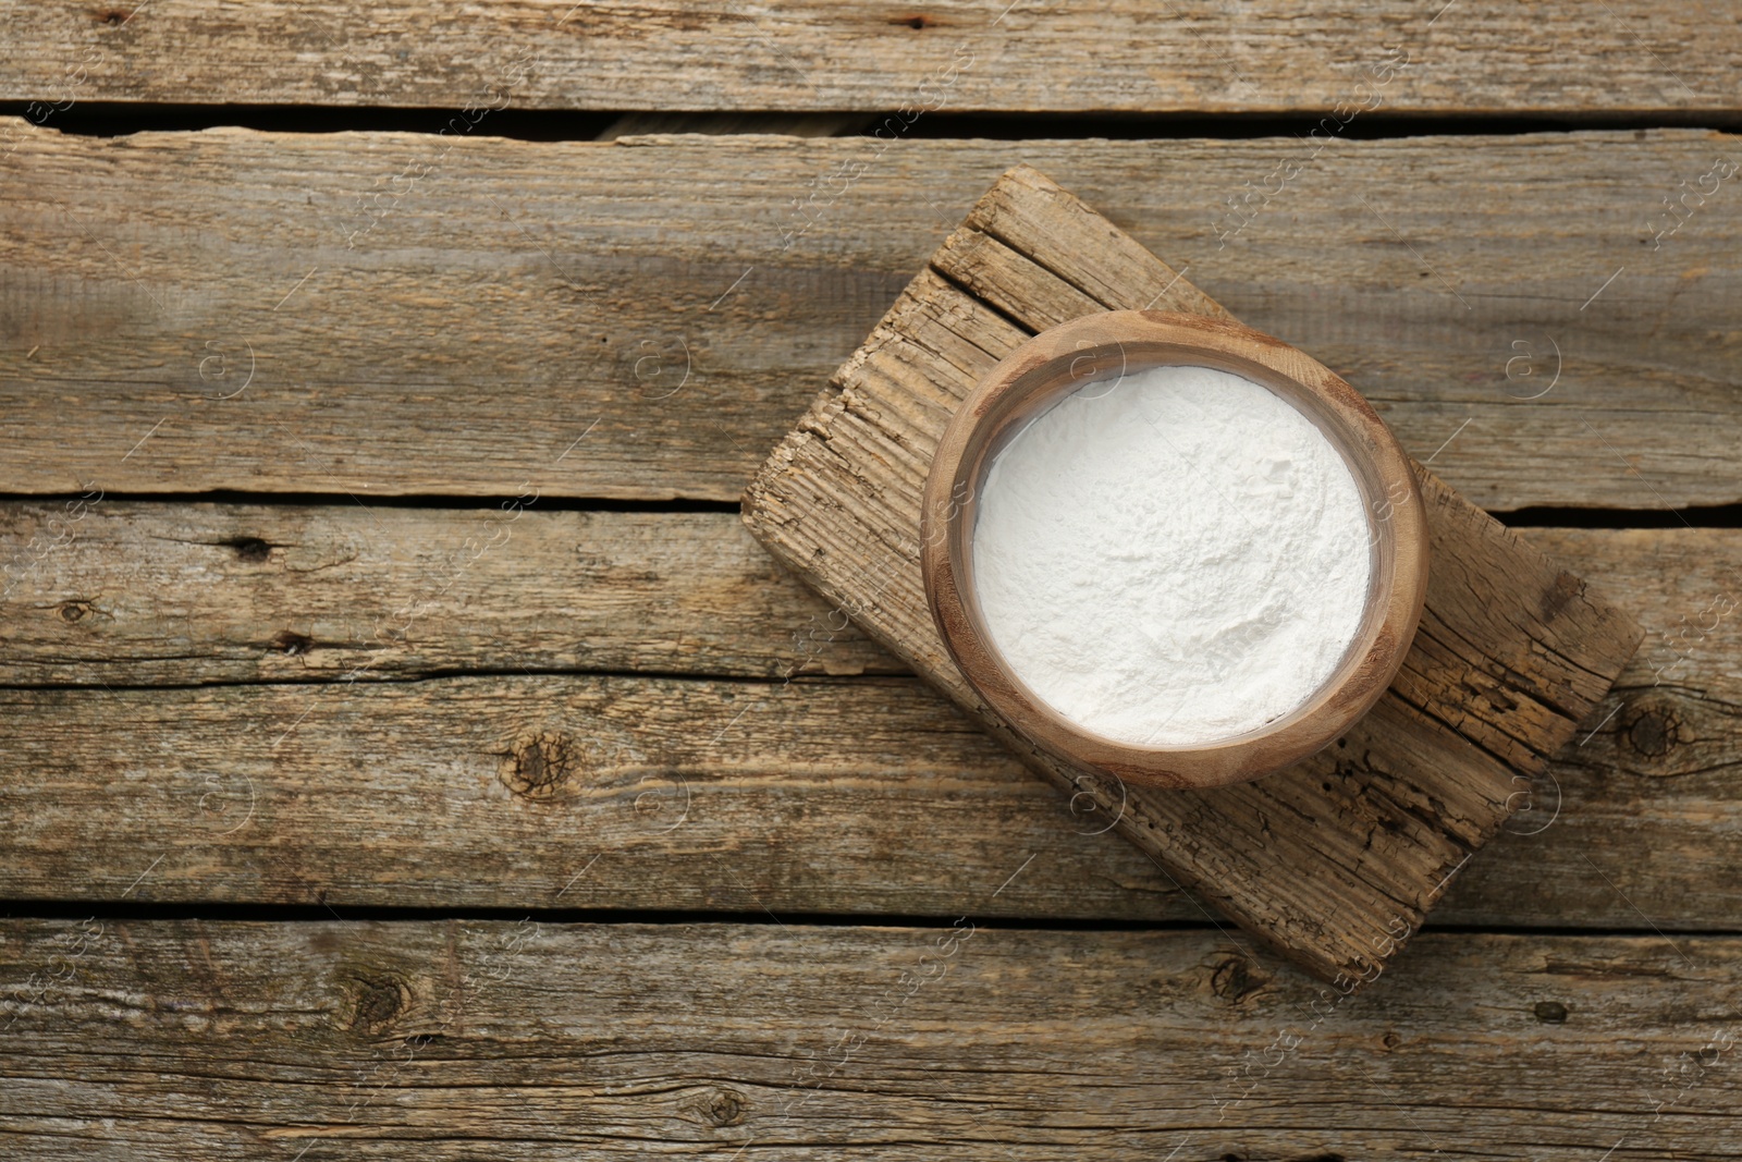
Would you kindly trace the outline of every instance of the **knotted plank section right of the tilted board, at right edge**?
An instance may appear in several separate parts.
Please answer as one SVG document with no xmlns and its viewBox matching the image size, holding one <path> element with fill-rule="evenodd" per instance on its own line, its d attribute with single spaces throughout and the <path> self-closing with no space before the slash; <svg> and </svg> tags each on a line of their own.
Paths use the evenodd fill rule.
<svg viewBox="0 0 1742 1162">
<path fill-rule="evenodd" d="M 1742 916 L 1742 531 L 1523 530 L 1648 627 L 1615 693 L 1456 882 L 1455 923 Z M 1664 916 L 1664 920 L 1658 920 Z"/>
</svg>

